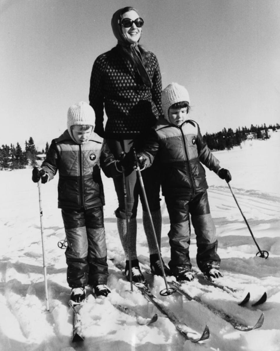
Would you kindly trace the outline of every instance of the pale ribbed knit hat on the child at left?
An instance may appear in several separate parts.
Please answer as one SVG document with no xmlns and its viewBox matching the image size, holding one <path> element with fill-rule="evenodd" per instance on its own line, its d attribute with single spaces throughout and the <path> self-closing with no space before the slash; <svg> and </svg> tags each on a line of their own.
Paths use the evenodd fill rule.
<svg viewBox="0 0 280 351">
<path fill-rule="evenodd" d="M 72 138 L 71 126 L 90 125 L 94 127 L 95 113 L 89 104 L 85 101 L 80 101 L 72 105 L 67 113 L 67 129 Z"/>
</svg>

